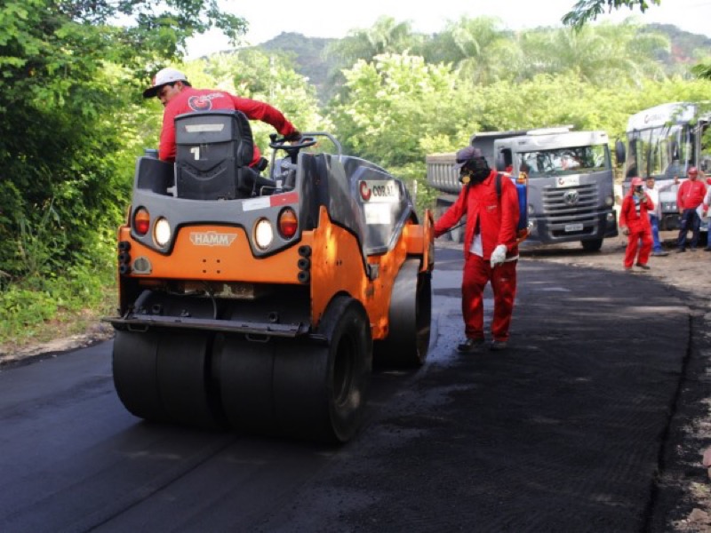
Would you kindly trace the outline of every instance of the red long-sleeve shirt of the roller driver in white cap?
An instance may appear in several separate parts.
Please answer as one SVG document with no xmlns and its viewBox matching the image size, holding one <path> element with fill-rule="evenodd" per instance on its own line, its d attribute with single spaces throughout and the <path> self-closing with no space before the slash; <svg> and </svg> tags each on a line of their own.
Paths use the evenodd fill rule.
<svg viewBox="0 0 711 533">
<path fill-rule="evenodd" d="M 158 157 L 163 161 L 175 161 L 175 117 L 183 113 L 195 111 L 211 111 L 214 109 L 236 109 L 242 111 L 251 120 L 260 120 L 274 126 L 281 135 L 289 135 L 294 131 L 282 112 L 259 100 L 240 98 L 229 92 L 212 89 L 194 89 L 186 86 L 175 96 L 163 113 L 163 130 L 158 147 Z M 260 148 L 254 145 L 254 158 L 251 165 L 259 163 Z"/>
</svg>

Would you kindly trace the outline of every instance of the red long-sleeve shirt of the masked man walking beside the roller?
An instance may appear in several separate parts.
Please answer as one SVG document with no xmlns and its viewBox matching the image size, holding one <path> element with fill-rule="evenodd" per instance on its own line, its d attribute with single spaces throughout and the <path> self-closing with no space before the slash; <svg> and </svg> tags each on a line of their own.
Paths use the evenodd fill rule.
<svg viewBox="0 0 711 533">
<path fill-rule="evenodd" d="M 467 191 L 468 189 L 468 191 Z M 507 257 L 518 255 L 516 227 L 518 226 L 518 193 L 516 186 L 506 176 L 501 177 L 501 198 L 496 192 L 496 171 L 482 183 L 462 187 L 457 201 L 435 223 L 435 236 L 443 235 L 467 215 L 464 230 L 464 257 L 469 257 L 475 228 L 482 234 L 483 259 L 491 259 L 491 252 L 498 244 L 505 244 Z"/>
</svg>

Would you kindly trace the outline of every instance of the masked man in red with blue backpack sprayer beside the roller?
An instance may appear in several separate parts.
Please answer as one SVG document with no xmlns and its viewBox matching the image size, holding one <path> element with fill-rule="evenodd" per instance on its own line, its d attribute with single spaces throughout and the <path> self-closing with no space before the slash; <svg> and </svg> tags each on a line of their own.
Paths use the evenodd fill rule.
<svg viewBox="0 0 711 533">
<path fill-rule="evenodd" d="M 491 320 L 493 339 L 490 348 L 506 347 L 516 293 L 518 245 L 518 194 L 511 179 L 500 179 L 500 197 L 496 171 L 491 171 L 481 150 L 462 148 L 457 152 L 459 176 L 464 187 L 457 201 L 435 223 L 435 236 L 446 233 L 466 216 L 464 230 L 464 277 L 461 308 L 466 340 L 459 352 L 474 352 L 484 342 L 483 290 L 491 282 L 494 313 Z"/>
</svg>

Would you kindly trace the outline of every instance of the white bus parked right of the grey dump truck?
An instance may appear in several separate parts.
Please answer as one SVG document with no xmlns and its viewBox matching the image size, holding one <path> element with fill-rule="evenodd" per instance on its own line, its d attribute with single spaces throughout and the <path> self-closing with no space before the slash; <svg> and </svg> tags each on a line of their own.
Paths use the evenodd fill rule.
<svg viewBox="0 0 711 533">
<path fill-rule="evenodd" d="M 711 173 L 711 132 L 705 135 L 710 119 L 711 115 L 690 102 L 661 104 L 630 116 L 627 143 L 618 141 L 615 146 L 618 163 L 625 163 L 623 193 L 627 194 L 635 176 L 653 176 L 657 187 L 661 187 L 675 176 L 686 179 L 690 166 Z M 659 229 L 679 227 L 676 190 L 673 186 L 659 195 Z M 706 229 L 706 225 L 702 228 Z"/>
</svg>

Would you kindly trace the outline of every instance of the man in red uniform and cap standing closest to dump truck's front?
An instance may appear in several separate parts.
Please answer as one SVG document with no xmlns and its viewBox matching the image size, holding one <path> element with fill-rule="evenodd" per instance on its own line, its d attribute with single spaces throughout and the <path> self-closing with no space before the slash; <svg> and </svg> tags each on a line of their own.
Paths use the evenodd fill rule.
<svg viewBox="0 0 711 533">
<path fill-rule="evenodd" d="M 622 230 L 622 235 L 627 235 L 624 260 L 627 272 L 632 270 L 635 258 L 637 267 L 643 270 L 650 269 L 647 265 L 652 243 L 649 212 L 653 210 L 654 203 L 644 191 L 642 178 L 633 178 L 619 209 L 619 228 Z"/>
</svg>

